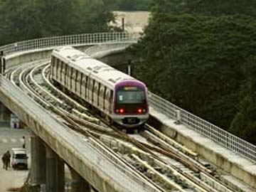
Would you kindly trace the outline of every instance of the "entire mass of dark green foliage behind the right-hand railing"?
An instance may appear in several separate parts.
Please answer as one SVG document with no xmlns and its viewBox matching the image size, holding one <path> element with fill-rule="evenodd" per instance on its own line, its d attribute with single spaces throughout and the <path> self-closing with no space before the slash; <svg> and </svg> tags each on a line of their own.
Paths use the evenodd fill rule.
<svg viewBox="0 0 256 192">
<path fill-rule="evenodd" d="M 144 37 L 131 49 L 135 75 L 167 100 L 256 144 L 253 13 L 239 12 L 244 1 L 229 9 L 222 1 L 180 2 L 154 2 Z"/>
</svg>

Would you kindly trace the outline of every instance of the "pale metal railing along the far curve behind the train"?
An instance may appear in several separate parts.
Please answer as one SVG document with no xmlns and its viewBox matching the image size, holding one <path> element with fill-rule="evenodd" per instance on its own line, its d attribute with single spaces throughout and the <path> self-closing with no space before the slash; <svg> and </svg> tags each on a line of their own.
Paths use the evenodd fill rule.
<svg viewBox="0 0 256 192">
<path fill-rule="evenodd" d="M 1 46 L 0 50 L 5 55 L 25 50 L 35 50 L 41 48 L 50 48 L 55 46 L 79 46 L 95 45 L 107 43 L 136 43 L 137 38 L 132 33 L 90 33 L 71 36 L 54 36 L 48 38 L 36 38 L 28 41 L 19 41 L 6 46 Z"/>
</svg>

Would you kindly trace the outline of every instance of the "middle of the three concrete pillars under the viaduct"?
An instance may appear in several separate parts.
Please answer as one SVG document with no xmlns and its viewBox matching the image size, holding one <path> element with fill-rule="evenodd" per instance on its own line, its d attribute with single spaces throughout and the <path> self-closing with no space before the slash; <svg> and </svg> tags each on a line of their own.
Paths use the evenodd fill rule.
<svg viewBox="0 0 256 192">
<path fill-rule="evenodd" d="M 65 192 L 64 162 L 46 146 L 46 192 Z"/>
</svg>

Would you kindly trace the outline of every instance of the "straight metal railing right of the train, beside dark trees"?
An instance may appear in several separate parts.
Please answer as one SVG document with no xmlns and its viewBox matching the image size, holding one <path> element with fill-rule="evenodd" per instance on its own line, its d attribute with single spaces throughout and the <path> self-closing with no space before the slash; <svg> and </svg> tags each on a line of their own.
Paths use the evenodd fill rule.
<svg viewBox="0 0 256 192">
<path fill-rule="evenodd" d="M 180 113 L 181 118 L 178 119 L 181 124 L 186 125 L 187 127 L 195 130 L 203 134 L 204 136 L 213 140 L 224 146 L 231 151 L 234 151 L 241 156 L 244 156 L 247 159 L 250 159 L 252 162 L 256 163 L 256 146 L 246 142 L 239 137 L 236 137 L 229 132 L 226 132 L 220 127 L 207 122 L 200 117 L 197 117 L 186 110 L 177 107 L 176 105 L 172 104 L 171 102 L 164 100 L 163 98 L 155 95 L 152 92 L 149 92 L 149 102 L 155 110 L 165 114 L 167 117 L 172 119 L 177 119 L 177 112 Z"/>
</svg>

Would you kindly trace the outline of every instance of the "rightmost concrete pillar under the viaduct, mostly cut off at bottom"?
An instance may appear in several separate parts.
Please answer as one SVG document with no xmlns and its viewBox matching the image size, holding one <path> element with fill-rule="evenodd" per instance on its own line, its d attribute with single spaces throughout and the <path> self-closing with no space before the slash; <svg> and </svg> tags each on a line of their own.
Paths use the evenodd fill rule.
<svg viewBox="0 0 256 192">
<path fill-rule="evenodd" d="M 73 183 L 71 184 L 70 192 L 90 192 L 90 184 L 85 181 L 74 169 L 69 167 L 71 177 L 73 178 Z"/>
</svg>

